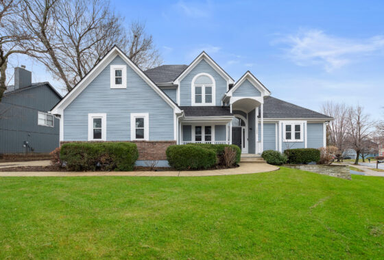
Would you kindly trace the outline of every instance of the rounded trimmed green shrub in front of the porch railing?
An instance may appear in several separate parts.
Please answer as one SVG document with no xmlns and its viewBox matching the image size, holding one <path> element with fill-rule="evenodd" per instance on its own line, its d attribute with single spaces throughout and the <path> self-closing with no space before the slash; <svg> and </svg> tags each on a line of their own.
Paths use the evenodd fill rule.
<svg viewBox="0 0 384 260">
<path fill-rule="evenodd" d="M 217 163 L 213 149 L 191 144 L 168 146 L 166 153 L 169 165 L 176 170 L 208 169 Z"/>
</svg>

